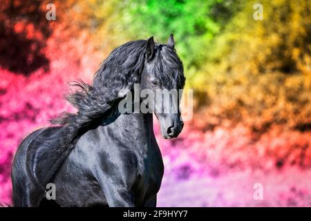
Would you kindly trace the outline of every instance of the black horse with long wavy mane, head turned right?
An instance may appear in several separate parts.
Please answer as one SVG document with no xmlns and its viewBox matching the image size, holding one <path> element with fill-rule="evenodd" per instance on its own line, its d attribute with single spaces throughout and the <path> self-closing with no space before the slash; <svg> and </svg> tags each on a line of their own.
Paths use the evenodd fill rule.
<svg viewBox="0 0 311 221">
<path fill-rule="evenodd" d="M 130 41 L 111 52 L 95 74 L 93 86 L 75 81 L 67 97 L 77 113 L 65 113 L 56 126 L 26 137 L 12 165 L 14 206 L 40 206 L 46 185 L 55 184 L 59 206 L 156 206 L 164 166 L 153 133 L 152 113 L 120 113 L 120 92 L 182 89 L 182 61 L 167 44 Z M 156 113 L 164 138 L 182 131 L 177 113 Z M 142 99 L 139 100 L 142 102 Z M 160 100 L 162 105 L 167 99 Z M 133 100 L 134 104 L 134 100 Z M 159 100 L 154 99 L 155 106 Z"/>
</svg>

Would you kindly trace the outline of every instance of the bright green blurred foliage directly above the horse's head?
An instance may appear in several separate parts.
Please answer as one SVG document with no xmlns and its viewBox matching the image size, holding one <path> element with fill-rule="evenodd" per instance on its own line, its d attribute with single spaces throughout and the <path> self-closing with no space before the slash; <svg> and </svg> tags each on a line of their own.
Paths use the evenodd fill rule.
<svg viewBox="0 0 311 221">
<path fill-rule="evenodd" d="M 220 31 L 220 25 L 211 17 L 211 7 L 219 0 L 129 2 L 126 27 L 132 36 L 154 35 L 165 44 L 173 33 L 186 69 L 198 70 L 204 65 L 207 46 Z"/>
</svg>

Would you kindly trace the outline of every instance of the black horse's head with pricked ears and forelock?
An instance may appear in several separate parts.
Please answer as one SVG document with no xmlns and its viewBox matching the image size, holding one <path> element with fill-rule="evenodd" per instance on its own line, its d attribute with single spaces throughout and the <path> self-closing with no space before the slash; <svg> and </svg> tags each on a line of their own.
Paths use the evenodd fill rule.
<svg viewBox="0 0 311 221">
<path fill-rule="evenodd" d="M 185 77 L 174 46 L 173 35 L 169 36 L 167 44 L 155 44 L 153 37 L 149 38 L 140 77 L 140 90 L 149 91 L 147 105 L 158 118 L 162 136 L 166 139 L 177 137 L 183 127 L 180 97 Z"/>
</svg>

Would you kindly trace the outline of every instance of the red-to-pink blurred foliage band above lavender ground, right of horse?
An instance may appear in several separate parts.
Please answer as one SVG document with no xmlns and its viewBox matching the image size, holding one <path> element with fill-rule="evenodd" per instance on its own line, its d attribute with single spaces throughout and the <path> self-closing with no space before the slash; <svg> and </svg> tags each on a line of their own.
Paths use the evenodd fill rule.
<svg viewBox="0 0 311 221">
<path fill-rule="evenodd" d="M 203 132 L 186 123 L 177 139 L 157 138 L 168 168 L 176 169 L 178 164 L 212 177 L 247 169 L 269 172 L 286 166 L 311 167 L 310 132 L 283 131 L 276 126 L 254 139 L 242 125 Z"/>
</svg>

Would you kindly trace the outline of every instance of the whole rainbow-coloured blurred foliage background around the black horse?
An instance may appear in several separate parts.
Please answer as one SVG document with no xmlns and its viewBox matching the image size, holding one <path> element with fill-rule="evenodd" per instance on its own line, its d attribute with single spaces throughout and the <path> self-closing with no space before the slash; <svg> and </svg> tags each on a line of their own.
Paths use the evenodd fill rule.
<svg viewBox="0 0 311 221">
<path fill-rule="evenodd" d="M 309 0 L 2 0 L 0 202 L 11 203 L 23 137 L 75 111 L 63 99 L 68 81 L 91 83 L 126 41 L 165 43 L 173 33 L 194 117 L 173 140 L 155 126 L 165 165 L 158 206 L 311 206 L 310 10 Z"/>
</svg>

